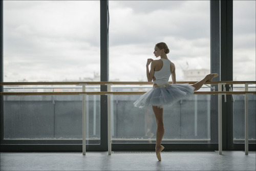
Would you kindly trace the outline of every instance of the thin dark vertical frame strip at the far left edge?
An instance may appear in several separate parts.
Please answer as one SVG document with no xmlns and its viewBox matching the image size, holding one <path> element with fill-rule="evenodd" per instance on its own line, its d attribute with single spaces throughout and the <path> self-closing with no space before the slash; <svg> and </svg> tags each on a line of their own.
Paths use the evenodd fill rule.
<svg viewBox="0 0 256 171">
<path fill-rule="evenodd" d="M 0 12 L 0 22 L 1 22 L 1 28 L 0 28 L 0 47 L 1 47 L 1 50 L 0 50 L 0 82 L 3 82 L 4 81 L 4 56 L 3 56 L 3 11 L 4 11 L 4 8 L 3 8 L 3 1 L 0 1 L 0 8 L 1 8 L 1 12 Z M 0 86 L 0 90 L 1 92 L 4 91 L 4 86 Z M 4 97 L 1 96 L 0 97 L 0 116 L 1 116 L 1 142 L 3 141 L 4 139 Z"/>
</svg>

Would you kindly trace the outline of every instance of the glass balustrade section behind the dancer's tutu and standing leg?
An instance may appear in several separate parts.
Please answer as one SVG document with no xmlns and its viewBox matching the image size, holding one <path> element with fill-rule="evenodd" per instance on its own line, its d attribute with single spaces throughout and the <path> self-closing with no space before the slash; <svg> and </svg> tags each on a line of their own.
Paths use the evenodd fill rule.
<svg viewBox="0 0 256 171">
<path fill-rule="evenodd" d="M 113 91 L 147 91 L 151 86 L 113 88 Z M 208 89 L 208 88 L 203 88 Z M 207 90 L 209 91 L 209 90 Z M 155 143 L 156 119 L 151 107 L 135 108 L 133 103 L 140 95 L 115 95 L 112 102 L 113 143 Z M 211 134 L 217 129 L 211 126 L 211 116 L 218 117 L 210 108 L 210 95 L 193 95 L 172 106 L 164 106 L 163 143 L 215 143 Z"/>
</svg>

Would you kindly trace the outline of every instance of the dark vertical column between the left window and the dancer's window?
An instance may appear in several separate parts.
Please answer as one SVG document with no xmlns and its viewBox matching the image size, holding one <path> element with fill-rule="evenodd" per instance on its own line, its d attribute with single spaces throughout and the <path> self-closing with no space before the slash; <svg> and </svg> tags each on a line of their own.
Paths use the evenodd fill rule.
<svg viewBox="0 0 256 171">
<path fill-rule="evenodd" d="M 100 1 L 100 81 L 109 81 L 109 2 Z M 107 91 L 106 86 L 101 86 L 100 91 Z M 100 149 L 108 150 L 108 99 L 100 96 Z"/>
</svg>

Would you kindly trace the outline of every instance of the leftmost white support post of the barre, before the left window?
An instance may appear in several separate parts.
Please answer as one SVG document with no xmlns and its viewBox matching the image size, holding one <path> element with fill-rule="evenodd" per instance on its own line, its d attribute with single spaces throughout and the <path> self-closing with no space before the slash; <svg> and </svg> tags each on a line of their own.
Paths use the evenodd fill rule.
<svg viewBox="0 0 256 171">
<path fill-rule="evenodd" d="M 86 83 L 81 83 L 82 92 L 86 92 Z M 82 94 L 82 155 L 86 155 L 86 94 Z"/>
</svg>

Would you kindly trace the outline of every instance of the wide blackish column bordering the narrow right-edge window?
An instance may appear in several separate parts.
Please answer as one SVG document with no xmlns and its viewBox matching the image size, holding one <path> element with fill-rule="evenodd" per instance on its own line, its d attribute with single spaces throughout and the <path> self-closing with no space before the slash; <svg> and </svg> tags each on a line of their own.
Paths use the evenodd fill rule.
<svg viewBox="0 0 256 171">
<path fill-rule="evenodd" d="M 220 2 L 220 52 L 221 81 L 233 79 L 233 1 Z M 226 85 L 228 91 L 228 85 Z M 227 150 L 233 137 L 233 106 L 227 95 L 227 102 L 222 99 L 223 150 Z M 228 145 L 229 144 L 229 145 Z"/>
</svg>

